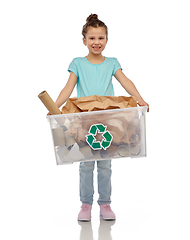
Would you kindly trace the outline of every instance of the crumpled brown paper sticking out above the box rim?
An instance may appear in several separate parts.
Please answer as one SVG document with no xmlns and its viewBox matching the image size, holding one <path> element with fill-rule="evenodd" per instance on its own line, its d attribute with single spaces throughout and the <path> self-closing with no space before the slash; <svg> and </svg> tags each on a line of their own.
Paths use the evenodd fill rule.
<svg viewBox="0 0 190 240">
<path fill-rule="evenodd" d="M 119 109 L 137 107 L 137 98 L 135 96 L 99 96 L 69 98 L 62 108 L 63 114 L 90 112 L 108 109 Z"/>
</svg>

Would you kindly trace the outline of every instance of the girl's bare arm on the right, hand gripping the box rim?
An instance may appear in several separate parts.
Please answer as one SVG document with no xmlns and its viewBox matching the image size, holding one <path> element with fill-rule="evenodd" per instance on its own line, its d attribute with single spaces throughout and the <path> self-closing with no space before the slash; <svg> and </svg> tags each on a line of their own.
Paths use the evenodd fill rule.
<svg viewBox="0 0 190 240">
<path fill-rule="evenodd" d="M 128 79 L 125 74 L 121 71 L 121 69 L 118 69 L 115 73 L 115 78 L 120 82 L 122 87 L 131 95 L 131 96 L 136 96 L 138 100 L 138 105 L 139 106 L 147 106 L 148 107 L 148 112 L 149 112 L 149 105 L 146 103 L 143 98 L 141 97 L 140 93 L 136 89 L 134 83 Z"/>
</svg>

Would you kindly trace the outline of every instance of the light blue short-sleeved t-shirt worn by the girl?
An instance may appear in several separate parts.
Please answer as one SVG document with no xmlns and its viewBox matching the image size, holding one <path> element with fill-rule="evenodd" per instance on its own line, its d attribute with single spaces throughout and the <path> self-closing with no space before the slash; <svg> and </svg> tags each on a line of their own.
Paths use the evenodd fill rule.
<svg viewBox="0 0 190 240">
<path fill-rule="evenodd" d="M 121 68 L 116 58 L 105 57 L 100 64 L 90 63 L 86 57 L 74 58 L 68 71 L 77 76 L 77 96 L 114 96 L 112 76 Z"/>
</svg>

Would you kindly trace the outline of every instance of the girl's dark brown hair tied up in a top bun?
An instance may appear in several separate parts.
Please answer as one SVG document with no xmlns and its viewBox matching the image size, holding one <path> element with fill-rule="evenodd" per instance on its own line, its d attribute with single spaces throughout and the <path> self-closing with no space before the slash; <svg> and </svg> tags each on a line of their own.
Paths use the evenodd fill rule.
<svg viewBox="0 0 190 240">
<path fill-rule="evenodd" d="M 94 28 L 104 27 L 106 30 L 106 38 L 108 38 L 108 28 L 104 22 L 98 19 L 97 14 L 91 14 L 89 17 L 87 17 L 86 24 L 83 26 L 83 29 L 82 29 L 82 35 L 84 38 L 86 38 L 86 34 L 89 27 L 94 27 Z"/>
</svg>

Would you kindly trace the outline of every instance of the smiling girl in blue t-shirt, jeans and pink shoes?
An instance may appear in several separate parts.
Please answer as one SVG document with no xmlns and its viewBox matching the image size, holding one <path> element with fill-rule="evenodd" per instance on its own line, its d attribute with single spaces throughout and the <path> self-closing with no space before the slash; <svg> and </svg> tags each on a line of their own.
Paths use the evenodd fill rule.
<svg viewBox="0 0 190 240">
<path fill-rule="evenodd" d="M 112 76 L 114 76 L 130 95 L 137 97 L 140 106 L 149 108 L 133 82 L 122 72 L 117 59 L 107 58 L 102 55 L 108 42 L 108 29 L 96 14 L 91 14 L 87 18 L 82 29 L 82 35 L 83 43 L 88 48 L 89 53 L 86 57 L 75 58 L 70 63 L 68 69 L 70 76 L 56 100 L 56 105 L 61 107 L 67 101 L 76 84 L 78 97 L 91 95 L 114 96 L 112 85 Z M 94 161 L 80 163 L 80 200 L 82 207 L 78 214 L 79 221 L 91 220 L 94 165 Z M 97 161 L 97 169 L 100 215 L 104 220 L 115 220 L 115 214 L 110 207 L 111 160 Z"/>
</svg>

